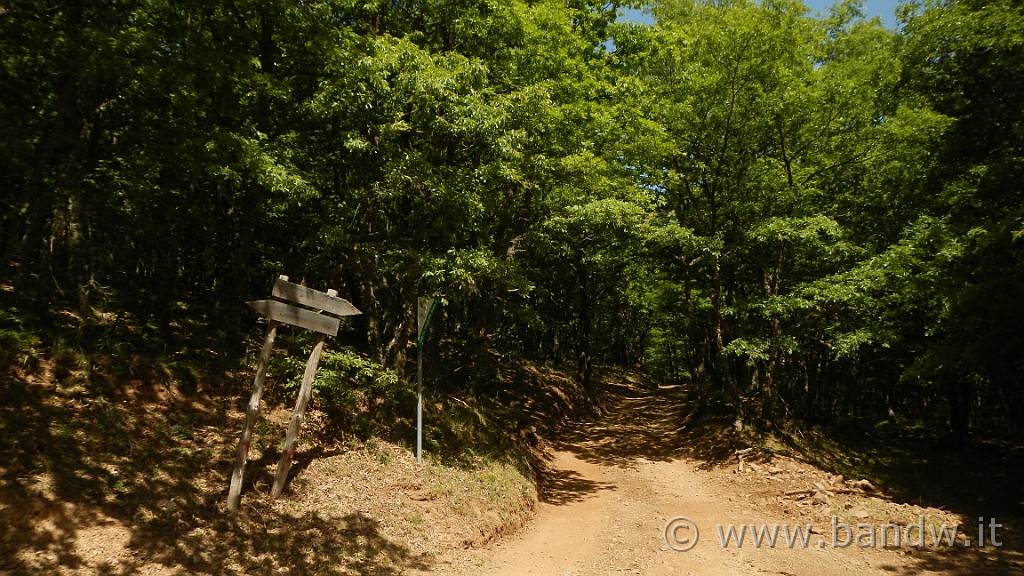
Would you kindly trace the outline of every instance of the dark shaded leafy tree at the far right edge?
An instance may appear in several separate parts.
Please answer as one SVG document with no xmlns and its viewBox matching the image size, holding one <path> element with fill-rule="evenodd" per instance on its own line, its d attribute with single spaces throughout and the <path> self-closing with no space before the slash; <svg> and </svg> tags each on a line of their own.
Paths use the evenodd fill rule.
<svg viewBox="0 0 1024 576">
<path fill-rule="evenodd" d="M 925 187 L 935 199 L 925 263 L 934 303 L 911 373 L 943 392 L 956 438 L 976 405 L 1020 430 L 1024 11 L 1018 2 L 923 3 L 902 17 L 907 88 L 951 119 Z"/>
</svg>

